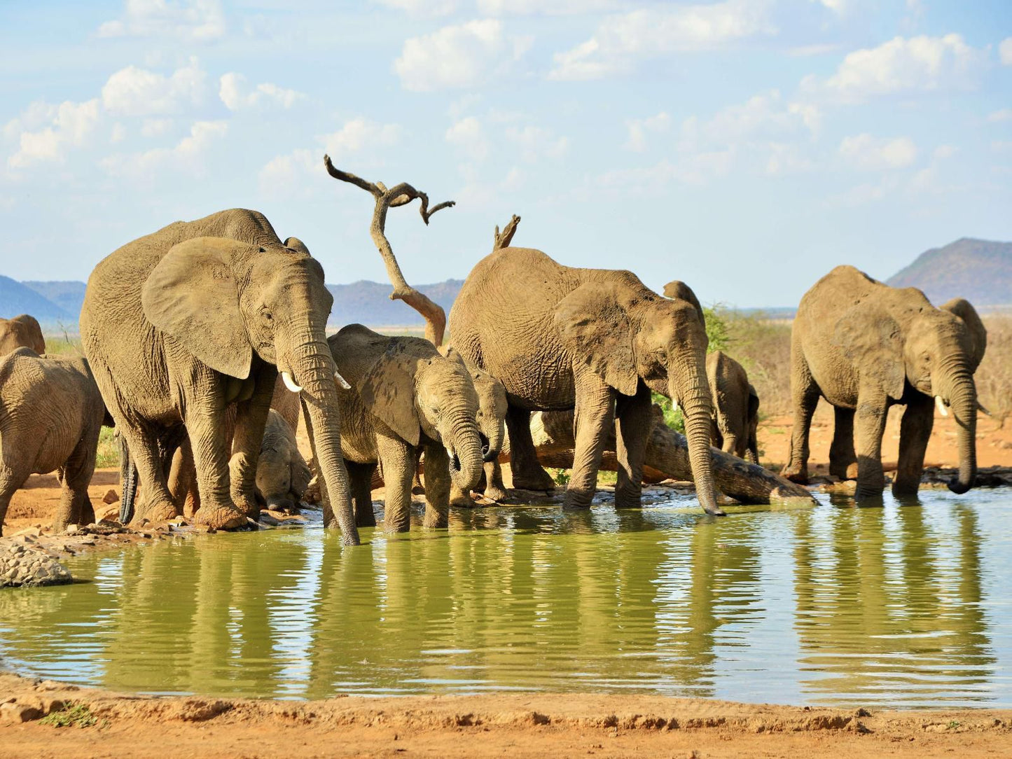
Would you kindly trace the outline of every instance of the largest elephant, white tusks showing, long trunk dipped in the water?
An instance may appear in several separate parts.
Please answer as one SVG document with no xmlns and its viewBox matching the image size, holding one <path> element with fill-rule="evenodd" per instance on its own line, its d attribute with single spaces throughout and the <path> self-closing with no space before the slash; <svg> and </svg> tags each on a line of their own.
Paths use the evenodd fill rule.
<svg viewBox="0 0 1012 759">
<path fill-rule="evenodd" d="M 138 518 L 175 514 L 164 461 L 183 437 L 202 504 L 197 520 L 234 528 L 258 515 L 256 463 L 280 371 L 301 395 L 341 539 L 359 542 L 341 457 L 335 380 L 343 380 L 326 341 L 332 304 L 323 267 L 302 241 L 282 243 L 262 214 L 244 208 L 176 222 L 98 263 L 81 339 L 144 483 Z"/>
</svg>

